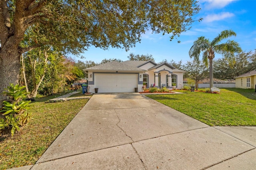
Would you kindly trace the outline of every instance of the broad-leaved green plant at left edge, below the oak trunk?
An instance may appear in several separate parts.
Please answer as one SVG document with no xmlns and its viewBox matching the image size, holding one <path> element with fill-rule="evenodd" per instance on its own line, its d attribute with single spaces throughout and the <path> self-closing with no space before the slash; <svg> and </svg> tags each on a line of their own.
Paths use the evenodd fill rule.
<svg viewBox="0 0 256 170">
<path fill-rule="evenodd" d="M 10 99 L 3 101 L 3 107 L 0 113 L 0 132 L 10 130 L 14 135 L 16 130 L 20 130 L 20 126 L 28 123 L 32 119 L 32 114 L 27 113 L 28 104 L 31 101 L 23 101 L 23 98 L 28 94 L 25 86 L 10 84 L 3 92 Z"/>
</svg>

